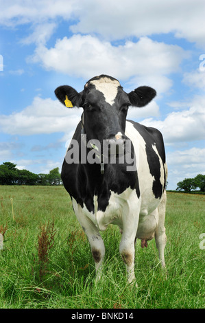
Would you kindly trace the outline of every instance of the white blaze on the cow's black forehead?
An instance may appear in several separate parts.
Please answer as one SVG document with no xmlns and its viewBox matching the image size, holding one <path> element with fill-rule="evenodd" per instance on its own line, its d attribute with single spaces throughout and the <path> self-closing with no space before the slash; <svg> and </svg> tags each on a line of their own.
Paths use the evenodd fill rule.
<svg viewBox="0 0 205 323">
<path fill-rule="evenodd" d="M 104 94 L 107 103 L 112 105 L 117 96 L 117 88 L 120 86 L 118 80 L 110 80 L 110 78 L 99 78 L 92 80 L 91 84 L 95 85 L 95 89 Z"/>
</svg>

